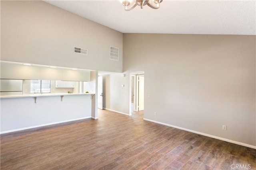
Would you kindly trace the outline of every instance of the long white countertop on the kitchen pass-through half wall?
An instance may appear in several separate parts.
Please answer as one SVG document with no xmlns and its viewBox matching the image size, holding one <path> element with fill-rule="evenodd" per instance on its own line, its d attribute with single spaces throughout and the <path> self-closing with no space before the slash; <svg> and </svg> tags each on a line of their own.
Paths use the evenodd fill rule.
<svg viewBox="0 0 256 170">
<path fill-rule="evenodd" d="M 44 94 L 24 94 L 24 95 L 10 95 L 10 96 L 0 96 L 1 99 L 4 98 L 32 98 L 32 97 L 48 97 L 48 96 L 74 96 L 74 95 L 93 95 L 95 93 L 44 93 Z"/>
</svg>

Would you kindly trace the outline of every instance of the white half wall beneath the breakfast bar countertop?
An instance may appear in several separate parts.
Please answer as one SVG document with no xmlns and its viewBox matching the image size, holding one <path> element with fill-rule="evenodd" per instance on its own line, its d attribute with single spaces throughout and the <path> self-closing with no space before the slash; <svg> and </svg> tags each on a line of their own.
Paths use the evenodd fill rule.
<svg viewBox="0 0 256 170">
<path fill-rule="evenodd" d="M 2 134 L 90 118 L 95 108 L 95 94 L 0 96 L 0 104 Z"/>
</svg>

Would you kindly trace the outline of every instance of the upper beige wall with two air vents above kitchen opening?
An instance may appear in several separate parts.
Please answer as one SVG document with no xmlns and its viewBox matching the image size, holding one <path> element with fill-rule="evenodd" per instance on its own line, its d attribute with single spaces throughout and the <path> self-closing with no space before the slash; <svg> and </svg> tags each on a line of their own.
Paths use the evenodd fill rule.
<svg viewBox="0 0 256 170">
<path fill-rule="evenodd" d="M 44 1 L 0 3 L 2 61 L 122 72 L 122 33 Z M 119 61 L 109 59 L 110 45 Z"/>
</svg>

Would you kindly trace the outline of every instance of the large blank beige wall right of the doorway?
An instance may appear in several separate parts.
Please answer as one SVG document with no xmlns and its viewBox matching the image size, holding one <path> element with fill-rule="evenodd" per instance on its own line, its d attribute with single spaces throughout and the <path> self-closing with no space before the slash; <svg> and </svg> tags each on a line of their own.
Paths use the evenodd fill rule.
<svg viewBox="0 0 256 170">
<path fill-rule="evenodd" d="M 124 34 L 124 71 L 145 72 L 144 118 L 256 146 L 255 40 Z"/>
</svg>

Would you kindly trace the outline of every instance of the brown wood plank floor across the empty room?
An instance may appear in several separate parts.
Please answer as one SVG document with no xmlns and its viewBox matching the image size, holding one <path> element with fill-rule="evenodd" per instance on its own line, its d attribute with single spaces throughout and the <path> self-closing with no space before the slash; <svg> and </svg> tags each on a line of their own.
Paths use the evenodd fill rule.
<svg viewBox="0 0 256 170">
<path fill-rule="evenodd" d="M 1 135 L 1 170 L 256 169 L 256 150 L 99 110 L 86 119 Z"/>
</svg>

